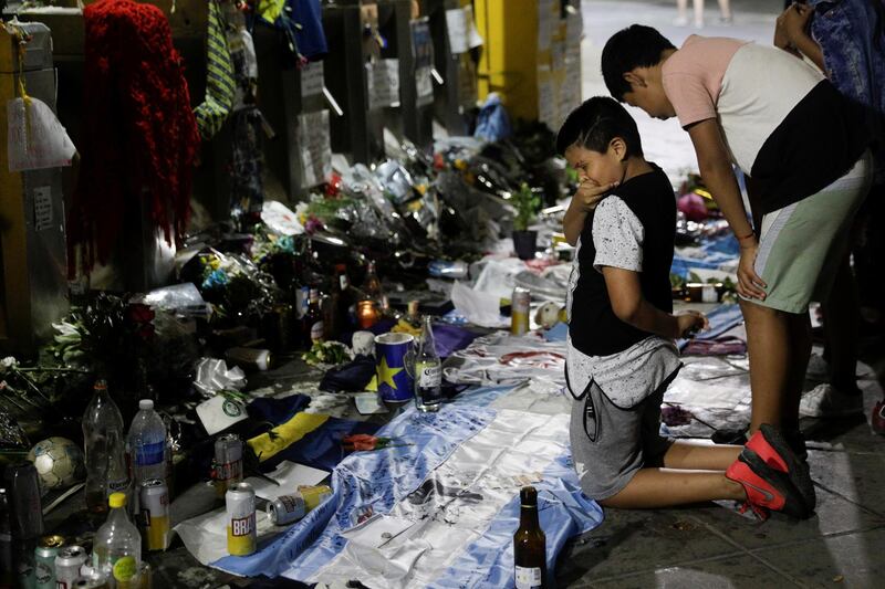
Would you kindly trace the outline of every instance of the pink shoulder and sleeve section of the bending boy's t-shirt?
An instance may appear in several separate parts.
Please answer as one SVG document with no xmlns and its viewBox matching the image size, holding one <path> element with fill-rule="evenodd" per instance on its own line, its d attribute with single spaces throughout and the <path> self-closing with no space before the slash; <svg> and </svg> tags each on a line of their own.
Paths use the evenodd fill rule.
<svg viewBox="0 0 885 589">
<path fill-rule="evenodd" d="M 731 57 L 748 41 L 725 36 L 690 35 L 664 62 L 662 82 L 679 124 L 716 118 L 716 103 Z"/>
</svg>

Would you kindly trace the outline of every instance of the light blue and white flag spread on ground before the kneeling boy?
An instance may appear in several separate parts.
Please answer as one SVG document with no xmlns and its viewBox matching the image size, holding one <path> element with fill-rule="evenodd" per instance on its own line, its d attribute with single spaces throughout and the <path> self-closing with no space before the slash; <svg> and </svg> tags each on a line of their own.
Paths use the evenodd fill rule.
<svg viewBox="0 0 885 589">
<path fill-rule="evenodd" d="M 333 472 L 333 497 L 304 520 L 250 557 L 210 565 L 385 589 L 510 587 L 519 490 L 531 484 L 552 575 L 566 539 L 597 526 L 603 514 L 581 493 L 569 416 L 504 408 L 520 404 L 507 402 L 510 393 L 537 401 L 525 387 L 488 388 L 438 413 L 397 417 L 378 435 L 410 445 L 352 454 Z"/>
</svg>

